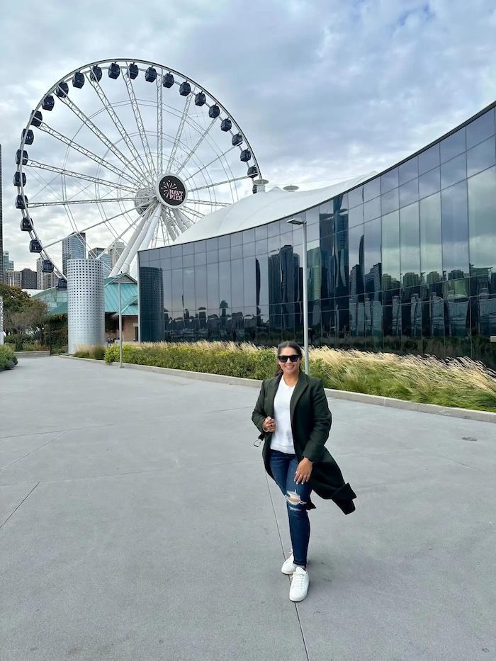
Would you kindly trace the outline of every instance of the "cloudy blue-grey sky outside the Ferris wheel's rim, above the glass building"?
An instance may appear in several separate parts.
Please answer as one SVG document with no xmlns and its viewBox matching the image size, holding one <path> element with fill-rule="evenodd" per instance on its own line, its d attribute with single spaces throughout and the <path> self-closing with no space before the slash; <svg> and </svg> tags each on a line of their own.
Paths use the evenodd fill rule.
<svg viewBox="0 0 496 661">
<path fill-rule="evenodd" d="M 87 62 L 150 60 L 201 81 L 264 176 L 302 188 L 380 171 L 496 96 L 492 0 L 28 0 L 4 4 L 0 21 L 4 249 L 16 269 L 35 266 L 13 208 L 21 130 Z"/>
</svg>

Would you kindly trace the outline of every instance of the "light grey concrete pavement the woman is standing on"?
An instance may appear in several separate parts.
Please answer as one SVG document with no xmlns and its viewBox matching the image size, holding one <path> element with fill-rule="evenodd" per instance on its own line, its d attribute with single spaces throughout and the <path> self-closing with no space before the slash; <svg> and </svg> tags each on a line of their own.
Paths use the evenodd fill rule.
<svg viewBox="0 0 496 661">
<path fill-rule="evenodd" d="M 329 400 L 310 590 L 257 392 L 39 358 L 0 373 L 0 659 L 496 658 L 495 426 Z"/>
</svg>

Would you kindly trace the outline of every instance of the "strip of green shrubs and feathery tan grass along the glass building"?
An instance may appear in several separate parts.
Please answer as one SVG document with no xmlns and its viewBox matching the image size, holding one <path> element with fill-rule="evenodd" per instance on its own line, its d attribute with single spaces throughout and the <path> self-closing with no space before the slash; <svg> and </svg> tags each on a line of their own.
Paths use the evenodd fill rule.
<svg viewBox="0 0 496 661">
<path fill-rule="evenodd" d="M 105 361 L 118 360 L 118 346 L 108 347 Z M 123 361 L 253 379 L 274 376 L 277 364 L 275 349 L 232 342 L 124 344 Z M 334 390 L 496 412 L 496 373 L 470 358 L 323 347 L 310 349 L 310 374 Z"/>
</svg>

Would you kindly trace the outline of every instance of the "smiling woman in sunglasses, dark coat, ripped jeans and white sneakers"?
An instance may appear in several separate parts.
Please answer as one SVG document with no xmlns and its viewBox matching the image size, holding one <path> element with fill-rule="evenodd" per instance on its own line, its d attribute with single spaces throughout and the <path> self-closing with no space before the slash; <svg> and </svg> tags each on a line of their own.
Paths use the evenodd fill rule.
<svg viewBox="0 0 496 661">
<path fill-rule="evenodd" d="M 344 514 L 354 512 L 356 498 L 325 448 L 331 412 L 322 381 L 301 371 L 302 358 L 296 342 L 279 344 L 278 371 L 261 384 L 252 414 L 259 439 L 265 439 L 265 469 L 286 497 L 293 548 L 281 571 L 292 576 L 291 601 L 302 601 L 308 592 L 308 510 L 315 509 L 310 493 L 332 499 Z"/>
</svg>

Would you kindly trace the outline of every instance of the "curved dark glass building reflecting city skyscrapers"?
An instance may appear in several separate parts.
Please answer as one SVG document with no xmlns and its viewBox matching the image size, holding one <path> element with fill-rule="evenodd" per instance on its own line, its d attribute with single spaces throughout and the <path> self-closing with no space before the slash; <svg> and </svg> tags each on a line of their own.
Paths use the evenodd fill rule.
<svg viewBox="0 0 496 661">
<path fill-rule="evenodd" d="M 215 227 L 205 217 L 176 244 L 140 252 L 142 341 L 303 343 L 302 230 L 287 222 L 297 216 L 308 228 L 310 344 L 495 368 L 495 106 L 317 205 L 284 193 L 295 209 L 281 205 L 277 220 L 230 234 L 220 223 L 193 240 Z"/>
</svg>

